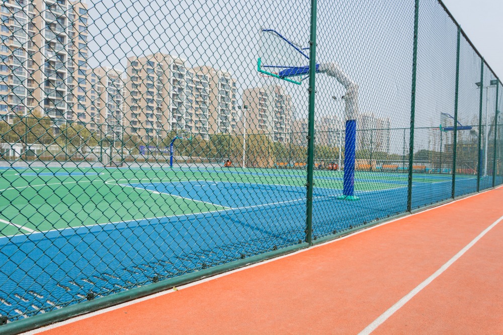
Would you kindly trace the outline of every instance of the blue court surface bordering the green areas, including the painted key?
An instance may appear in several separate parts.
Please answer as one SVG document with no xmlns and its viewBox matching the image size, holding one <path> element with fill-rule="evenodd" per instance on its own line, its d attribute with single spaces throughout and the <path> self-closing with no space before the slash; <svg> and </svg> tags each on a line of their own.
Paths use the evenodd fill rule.
<svg viewBox="0 0 503 335">
<path fill-rule="evenodd" d="M 79 172 L 69 175 L 75 173 Z M 166 194 L 218 209 L 2 237 L 0 314 L 13 320 L 16 315 L 63 306 L 56 302 L 72 304 L 86 300 L 90 293 L 99 297 L 156 278 L 171 278 L 302 243 L 306 188 L 291 181 L 305 180 L 305 176 L 288 172 L 281 175 L 285 176 L 290 177 L 285 184 L 222 178 L 117 183 L 124 189 Z M 315 176 L 315 238 L 406 211 L 407 180 L 403 174 L 358 175 L 355 182 L 367 188 L 356 191 L 358 201 L 337 199 L 342 187 L 323 187 L 341 177 Z M 449 199 L 451 178 L 414 175 L 412 208 Z M 373 183 L 380 189 L 372 189 Z M 456 194 L 474 192 L 476 184 L 475 177 L 460 176 L 456 179 Z M 481 188 L 490 186 L 492 177 L 483 177 Z"/>
</svg>

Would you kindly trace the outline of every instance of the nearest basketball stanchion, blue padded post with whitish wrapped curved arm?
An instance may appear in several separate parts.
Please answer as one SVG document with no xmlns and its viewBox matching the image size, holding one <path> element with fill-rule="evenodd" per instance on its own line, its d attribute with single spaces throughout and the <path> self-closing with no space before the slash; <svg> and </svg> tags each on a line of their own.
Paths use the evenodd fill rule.
<svg viewBox="0 0 503 335">
<path fill-rule="evenodd" d="M 345 111 L 344 119 L 346 121 L 346 137 L 344 145 L 344 182 L 343 195 L 339 199 L 358 200 L 355 195 L 355 163 L 356 163 L 356 120 L 358 118 L 358 84 L 351 79 L 342 68 L 336 63 L 321 63 L 317 72 L 324 73 L 330 77 L 336 78 L 344 88 Z M 341 148 L 339 148 L 341 150 Z M 372 164 L 372 162 L 371 162 Z"/>
</svg>

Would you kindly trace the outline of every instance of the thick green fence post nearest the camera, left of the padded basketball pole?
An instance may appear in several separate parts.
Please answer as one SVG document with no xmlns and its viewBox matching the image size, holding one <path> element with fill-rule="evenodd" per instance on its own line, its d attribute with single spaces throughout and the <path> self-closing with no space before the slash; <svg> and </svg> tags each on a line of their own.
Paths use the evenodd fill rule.
<svg viewBox="0 0 503 335">
<path fill-rule="evenodd" d="M 309 116 L 307 131 L 307 201 L 306 242 L 312 245 L 313 169 L 314 169 L 314 93 L 316 74 L 316 0 L 311 0 L 311 32 L 309 38 Z"/>
</svg>

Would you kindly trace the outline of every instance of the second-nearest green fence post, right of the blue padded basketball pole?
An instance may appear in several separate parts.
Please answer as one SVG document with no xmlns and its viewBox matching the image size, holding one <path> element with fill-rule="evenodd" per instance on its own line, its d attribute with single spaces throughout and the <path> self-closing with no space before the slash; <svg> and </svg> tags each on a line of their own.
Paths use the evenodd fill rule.
<svg viewBox="0 0 503 335">
<path fill-rule="evenodd" d="M 409 166 L 407 185 L 407 211 L 412 210 L 412 160 L 414 156 L 415 82 L 417 73 L 417 31 L 419 24 L 419 0 L 414 4 L 414 46 L 412 51 L 412 92 L 410 101 Z"/>
</svg>

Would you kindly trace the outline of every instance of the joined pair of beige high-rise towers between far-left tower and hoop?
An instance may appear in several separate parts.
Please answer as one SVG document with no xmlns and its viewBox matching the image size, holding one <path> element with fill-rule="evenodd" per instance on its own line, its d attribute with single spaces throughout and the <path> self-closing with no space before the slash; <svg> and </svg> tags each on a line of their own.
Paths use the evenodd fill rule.
<svg viewBox="0 0 503 335">
<path fill-rule="evenodd" d="M 240 132 L 236 80 L 227 71 L 187 68 L 181 58 L 156 53 L 128 58 L 124 80 L 124 127 L 144 142 L 169 131 L 204 139 Z"/>
</svg>

